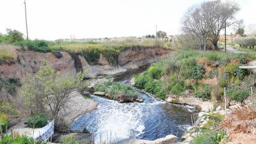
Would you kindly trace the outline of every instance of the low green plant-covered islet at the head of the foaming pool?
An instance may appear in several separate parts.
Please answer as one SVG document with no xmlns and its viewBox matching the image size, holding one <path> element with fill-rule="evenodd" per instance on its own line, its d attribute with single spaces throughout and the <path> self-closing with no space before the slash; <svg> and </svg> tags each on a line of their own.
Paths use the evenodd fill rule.
<svg viewBox="0 0 256 144">
<path fill-rule="evenodd" d="M 109 99 L 118 100 L 120 102 L 132 102 L 137 99 L 139 95 L 131 86 L 115 82 L 97 84 L 95 92 L 105 92 Z"/>
</svg>

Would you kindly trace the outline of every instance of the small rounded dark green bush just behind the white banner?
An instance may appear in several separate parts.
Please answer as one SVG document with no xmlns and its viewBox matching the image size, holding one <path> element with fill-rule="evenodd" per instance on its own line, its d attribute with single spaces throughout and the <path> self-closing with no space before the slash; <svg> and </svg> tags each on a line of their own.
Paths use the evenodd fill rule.
<svg viewBox="0 0 256 144">
<path fill-rule="evenodd" d="M 49 117 L 45 113 L 37 113 L 35 115 L 29 116 L 28 126 L 33 128 L 44 127 L 47 124 Z"/>
</svg>

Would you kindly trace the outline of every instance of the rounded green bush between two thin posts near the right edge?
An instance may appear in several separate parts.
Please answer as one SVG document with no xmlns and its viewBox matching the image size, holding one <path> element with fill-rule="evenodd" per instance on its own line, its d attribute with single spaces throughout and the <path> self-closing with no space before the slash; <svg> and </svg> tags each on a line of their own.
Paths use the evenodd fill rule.
<svg viewBox="0 0 256 144">
<path fill-rule="evenodd" d="M 227 96 L 231 100 L 235 100 L 237 102 L 243 102 L 246 97 L 250 95 L 250 90 L 248 88 L 239 88 L 239 87 L 233 87 L 228 88 L 227 90 Z"/>
</svg>

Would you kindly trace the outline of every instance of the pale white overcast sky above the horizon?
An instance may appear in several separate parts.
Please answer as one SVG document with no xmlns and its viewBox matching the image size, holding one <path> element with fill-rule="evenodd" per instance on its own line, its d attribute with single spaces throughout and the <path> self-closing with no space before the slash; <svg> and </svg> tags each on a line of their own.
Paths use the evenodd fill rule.
<svg viewBox="0 0 256 144">
<path fill-rule="evenodd" d="M 101 38 L 143 36 L 158 29 L 180 33 L 180 18 L 204 0 L 26 0 L 29 38 Z M 238 19 L 256 24 L 256 1 L 236 0 Z M 0 0 L 0 32 L 6 28 L 26 33 L 24 0 Z"/>
</svg>

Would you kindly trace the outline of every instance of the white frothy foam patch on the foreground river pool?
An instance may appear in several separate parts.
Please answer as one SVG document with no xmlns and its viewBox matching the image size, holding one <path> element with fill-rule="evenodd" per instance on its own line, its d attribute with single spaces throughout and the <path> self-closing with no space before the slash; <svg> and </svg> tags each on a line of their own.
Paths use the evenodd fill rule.
<svg viewBox="0 0 256 144">
<path fill-rule="evenodd" d="M 93 118 L 90 119 L 91 124 L 86 127 L 95 132 L 95 143 L 99 143 L 100 140 L 120 141 L 136 137 L 143 132 L 145 129 L 142 122 L 143 104 L 136 102 L 120 104 L 113 100 L 108 100 L 107 103 L 103 102 L 99 105 L 93 116 L 90 116 Z"/>
</svg>

